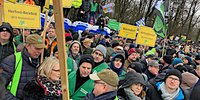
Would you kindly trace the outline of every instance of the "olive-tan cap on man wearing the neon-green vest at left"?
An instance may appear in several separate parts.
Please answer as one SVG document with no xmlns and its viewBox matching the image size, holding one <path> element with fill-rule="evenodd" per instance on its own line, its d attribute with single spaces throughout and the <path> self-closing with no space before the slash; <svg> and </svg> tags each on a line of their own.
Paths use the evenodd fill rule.
<svg viewBox="0 0 200 100">
<path fill-rule="evenodd" d="M 26 38 L 26 43 L 33 44 L 37 48 L 45 48 L 45 43 L 42 40 L 42 37 L 38 34 L 30 34 Z"/>
</svg>

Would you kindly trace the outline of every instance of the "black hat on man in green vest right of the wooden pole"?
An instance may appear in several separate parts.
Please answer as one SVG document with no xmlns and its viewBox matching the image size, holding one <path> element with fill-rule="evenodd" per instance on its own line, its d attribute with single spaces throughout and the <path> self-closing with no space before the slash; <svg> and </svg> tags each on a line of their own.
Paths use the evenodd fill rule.
<svg viewBox="0 0 200 100">
<path fill-rule="evenodd" d="M 94 59 L 93 59 L 93 57 L 92 57 L 91 55 L 88 55 L 88 54 L 83 55 L 83 56 L 81 57 L 80 62 L 79 62 L 79 66 L 80 66 L 83 62 L 88 62 L 88 63 L 92 64 L 92 68 L 94 67 Z"/>
</svg>

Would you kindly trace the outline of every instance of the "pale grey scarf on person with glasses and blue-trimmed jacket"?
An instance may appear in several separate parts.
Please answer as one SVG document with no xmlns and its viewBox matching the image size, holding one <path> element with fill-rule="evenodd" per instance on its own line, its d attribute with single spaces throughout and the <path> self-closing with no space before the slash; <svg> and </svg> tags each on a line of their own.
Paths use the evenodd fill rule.
<svg viewBox="0 0 200 100">
<path fill-rule="evenodd" d="M 161 95 L 161 96 L 162 96 L 163 100 L 174 100 L 174 99 L 178 96 L 179 91 L 180 91 L 180 88 L 178 88 L 174 93 L 169 94 L 169 93 L 167 92 L 166 87 L 165 87 L 165 83 L 163 82 L 163 83 L 160 85 L 160 90 L 161 90 L 161 92 L 162 92 L 162 95 Z"/>
</svg>

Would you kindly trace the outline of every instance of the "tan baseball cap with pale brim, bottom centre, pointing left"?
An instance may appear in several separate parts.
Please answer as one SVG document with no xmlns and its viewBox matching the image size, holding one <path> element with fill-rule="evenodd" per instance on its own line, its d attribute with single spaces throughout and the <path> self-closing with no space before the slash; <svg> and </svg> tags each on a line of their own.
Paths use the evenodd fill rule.
<svg viewBox="0 0 200 100">
<path fill-rule="evenodd" d="M 109 69 L 104 69 L 98 73 L 90 74 L 90 79 L 94 81 L 102 80 L 113 87 L 117 87 L 119 82 L 118 75 Z"/>
</svg>

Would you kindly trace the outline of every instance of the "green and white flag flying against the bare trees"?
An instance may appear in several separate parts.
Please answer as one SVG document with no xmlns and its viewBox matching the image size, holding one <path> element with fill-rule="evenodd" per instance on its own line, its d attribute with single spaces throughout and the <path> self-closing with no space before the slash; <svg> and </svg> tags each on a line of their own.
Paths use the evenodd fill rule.
<svg viewBox="0 0 200 100">
<path fill-rule="evenodd" d="M 154 22 L 153 29 L 157 35 L 162 38 L 165 38 L 165 34 L 167 32 L 167 25 L 165 23 L 165 16 L 164 16 L 164 1 L 157 0 L 154 6 L 154 12 L 156 15 L 156 19 Z"/>
</svg>

